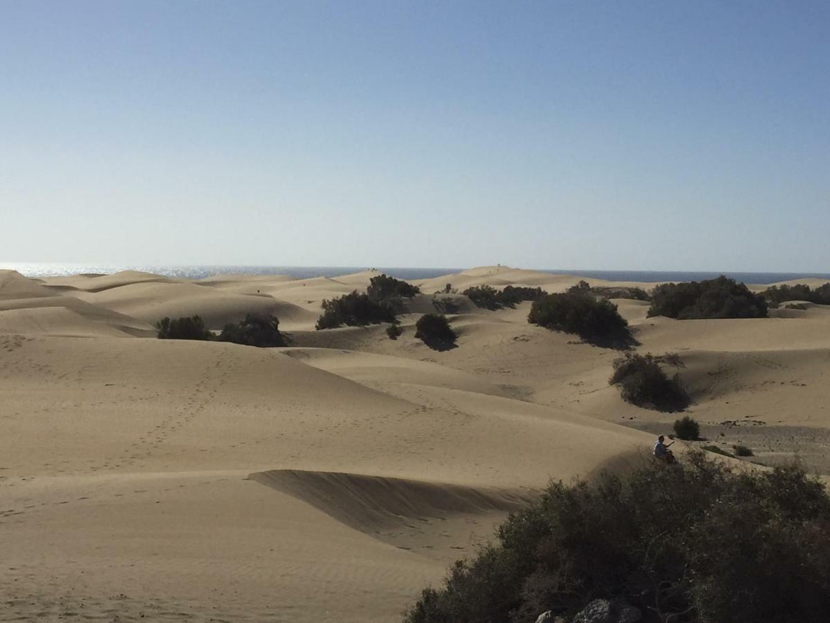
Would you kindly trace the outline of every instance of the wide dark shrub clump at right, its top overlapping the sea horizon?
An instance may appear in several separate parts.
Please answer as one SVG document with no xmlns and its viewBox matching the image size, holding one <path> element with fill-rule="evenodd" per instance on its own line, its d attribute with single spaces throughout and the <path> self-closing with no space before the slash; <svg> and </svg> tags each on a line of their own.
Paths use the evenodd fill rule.
<svg viewBox="0 0 830 623">
<path fill-rule="evenodd" d="M 767 302 L 743 283 L 720 276 L 702 282 L 664 283 L 652 292 L 648 316 L 693 318 L 765 318 Z"/>
</svg>

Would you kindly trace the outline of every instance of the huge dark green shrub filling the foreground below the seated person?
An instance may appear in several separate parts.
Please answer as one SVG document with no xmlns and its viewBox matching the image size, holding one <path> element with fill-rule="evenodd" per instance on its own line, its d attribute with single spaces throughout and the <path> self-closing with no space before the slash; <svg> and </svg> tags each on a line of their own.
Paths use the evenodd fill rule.
<svg viewBox="0 0 830 623">
<path fill-rule="evenodd" d="M 830 496 L 803 469 L 733 471 L 691 452 L 551 483 L 496 542 L 427 588 L 408 623 L 566 620 L 621 597 L 672 623 L 826 621 Z"/>
</svg>

